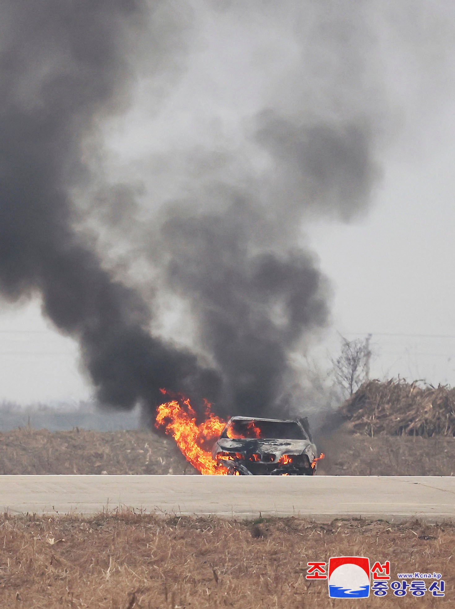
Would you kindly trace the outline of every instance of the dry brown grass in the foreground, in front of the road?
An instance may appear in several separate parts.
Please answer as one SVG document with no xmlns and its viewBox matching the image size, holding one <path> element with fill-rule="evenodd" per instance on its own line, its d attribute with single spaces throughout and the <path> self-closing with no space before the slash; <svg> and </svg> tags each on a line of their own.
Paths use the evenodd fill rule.
<svg viewBox="0 0 455 609">
<path fill-rule="evenodd" d="M 370 597 L 365 607 L 440 607 L 454 599 L 455 527 L 336 519 L 174 518 L 123 513 L 90 519 L 0 519 L 0 607 L 242 609 L 343 607 L 306 563 L 336 555 L 390 560 L 401 571 L 437 571 L 443 599 Z"/>
</svg>

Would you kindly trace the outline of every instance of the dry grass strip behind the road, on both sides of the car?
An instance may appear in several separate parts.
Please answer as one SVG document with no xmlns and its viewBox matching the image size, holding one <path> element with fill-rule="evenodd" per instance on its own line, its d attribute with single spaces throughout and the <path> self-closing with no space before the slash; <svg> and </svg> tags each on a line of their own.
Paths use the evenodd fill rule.
<svg viewBox="0 0 455 609">
<path fill-rule="evenodd" d="M 318 441 L 318 474 L 453 476 L 455 438 L 352 434 Z M 0 474 L 194 474 L 173 440 L 149 431 L 0 432 Z"/>
</svg>

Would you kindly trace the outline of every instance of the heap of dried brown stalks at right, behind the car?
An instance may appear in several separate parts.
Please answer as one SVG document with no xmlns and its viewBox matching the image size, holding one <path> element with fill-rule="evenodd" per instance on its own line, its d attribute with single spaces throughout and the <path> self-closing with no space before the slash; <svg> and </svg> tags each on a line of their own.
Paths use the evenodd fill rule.
<svg viewBox="0 0 455 609">
<path fill-rule="evenodd" d="M 404 379 L 364 383 L 340 407 L 360 433 L 390 435 L 455 435 L 455 389 L 421 386 Z"/>
</svg>

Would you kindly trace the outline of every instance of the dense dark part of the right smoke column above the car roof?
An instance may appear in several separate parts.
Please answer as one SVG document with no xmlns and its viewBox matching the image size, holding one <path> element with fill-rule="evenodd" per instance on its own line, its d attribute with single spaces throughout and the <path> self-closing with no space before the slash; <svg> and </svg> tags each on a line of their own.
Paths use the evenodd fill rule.
<svg viewBox="0 0 455 609">
<path fill-rule="evenodd" d="M 295 192 L 264 209 L 255 189 L 215 183 L 221 213 L 180 209 L 159 239 L 163 250 L 173 244 L 168 285 L 192 303 L 202 347 L 221 370 L 223 411 L 259 416 L 293 406 L 282 403 L 290 352 L 329 320 L 328 281 L 298 246 L 301 216 L 324 205 L 350 217 L 368 201 L 376 168 L 359 125 L 298 125 L 272 111 L 257 122 L 256 141 Z"/>
</svg>

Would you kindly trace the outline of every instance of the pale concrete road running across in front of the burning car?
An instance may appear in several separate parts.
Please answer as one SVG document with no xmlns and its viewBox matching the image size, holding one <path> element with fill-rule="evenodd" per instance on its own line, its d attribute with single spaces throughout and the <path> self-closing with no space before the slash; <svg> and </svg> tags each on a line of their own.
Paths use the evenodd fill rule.
<svg viewBox="0 0 455 609">
<path fill-rule="evenodd" d="M 0 476 L 1 512 L 455 519 L 455 477 Z"/>
</svg>

